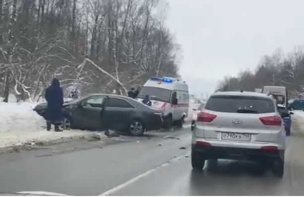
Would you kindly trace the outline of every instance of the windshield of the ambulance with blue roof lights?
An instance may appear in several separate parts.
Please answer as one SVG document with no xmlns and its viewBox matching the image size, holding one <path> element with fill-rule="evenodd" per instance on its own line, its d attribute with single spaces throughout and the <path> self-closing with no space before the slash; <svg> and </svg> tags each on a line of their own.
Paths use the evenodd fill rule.
<svg viewBox="0 0 304 197">
<path fill-rule="evenodd" d="M 145 98 L 146 95 L 149 95 L 151 100 L 170 102 L 171 91 L 162 88 L 144 86 L 138 95 L 138 98 Z"/>
</svg>

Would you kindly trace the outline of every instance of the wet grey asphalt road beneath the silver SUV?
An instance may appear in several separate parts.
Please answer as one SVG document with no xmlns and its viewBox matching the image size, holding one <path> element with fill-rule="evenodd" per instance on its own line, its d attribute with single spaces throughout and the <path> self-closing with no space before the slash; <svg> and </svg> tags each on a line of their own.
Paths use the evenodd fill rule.
<svg viewBox="0 0 304 197">
<path fill-rule="evenodd" d="M 209 162 L 203 172 L 192 171 L 190 139 L 187 128 L 2 155 L 0 192 L 73 196 L 304 194 L 304 134 L 297 129 L 288 138 L 286 174 L 281 180 L 270 172 L 262 173 L 255 163 L 228 160 Z"/>
</svg>

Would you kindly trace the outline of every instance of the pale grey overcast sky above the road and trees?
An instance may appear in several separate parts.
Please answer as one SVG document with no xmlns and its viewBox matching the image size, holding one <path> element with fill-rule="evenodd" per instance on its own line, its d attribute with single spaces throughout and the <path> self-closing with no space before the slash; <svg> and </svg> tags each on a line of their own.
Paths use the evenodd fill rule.
<svg viewBox="0 0 304 197">
<path fill-rule="evenodd" d="M 304 0 L 168 0 L 167 26 L 182 45 L 191 92 L 254 69 L 263 55 L 304 44 Z"/>
</svg>

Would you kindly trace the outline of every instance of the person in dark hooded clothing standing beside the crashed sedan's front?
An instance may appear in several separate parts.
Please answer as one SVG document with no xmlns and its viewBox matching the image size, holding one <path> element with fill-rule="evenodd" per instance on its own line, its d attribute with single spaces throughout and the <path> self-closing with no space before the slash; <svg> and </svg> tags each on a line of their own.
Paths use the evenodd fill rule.
<svg viewBox="0 0 304 197">
<path fill-rule="evenodd" d="M 61 108 L 64 103 L 63 91 L 57 78 L 54 78 L 52 85 L 46 89 L 45 99 L 48 102 L 46 109 L 47 130 L 50 131 L 51 125 L 54 124 L 56 132 L 63 131 L 59 128 L 62 119 Z"/>
</svg>

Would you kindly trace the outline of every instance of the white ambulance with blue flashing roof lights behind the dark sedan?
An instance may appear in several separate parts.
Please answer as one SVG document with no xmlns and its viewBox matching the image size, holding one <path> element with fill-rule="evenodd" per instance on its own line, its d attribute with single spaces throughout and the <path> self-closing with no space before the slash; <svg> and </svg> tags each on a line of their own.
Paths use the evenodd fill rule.
<svg viewBox="0 0 304 197">
<path fill-rule="evenodd" d="M 142 102 L 146 95 L 150 96 L 153 108 L 163 109 L 164 127 L 171 127 L 172 122 L 182 126 L 189 109 L 189 90 L 184 81 L 170 77 L 152 77 L 137 99 Z"/>
</svg>

